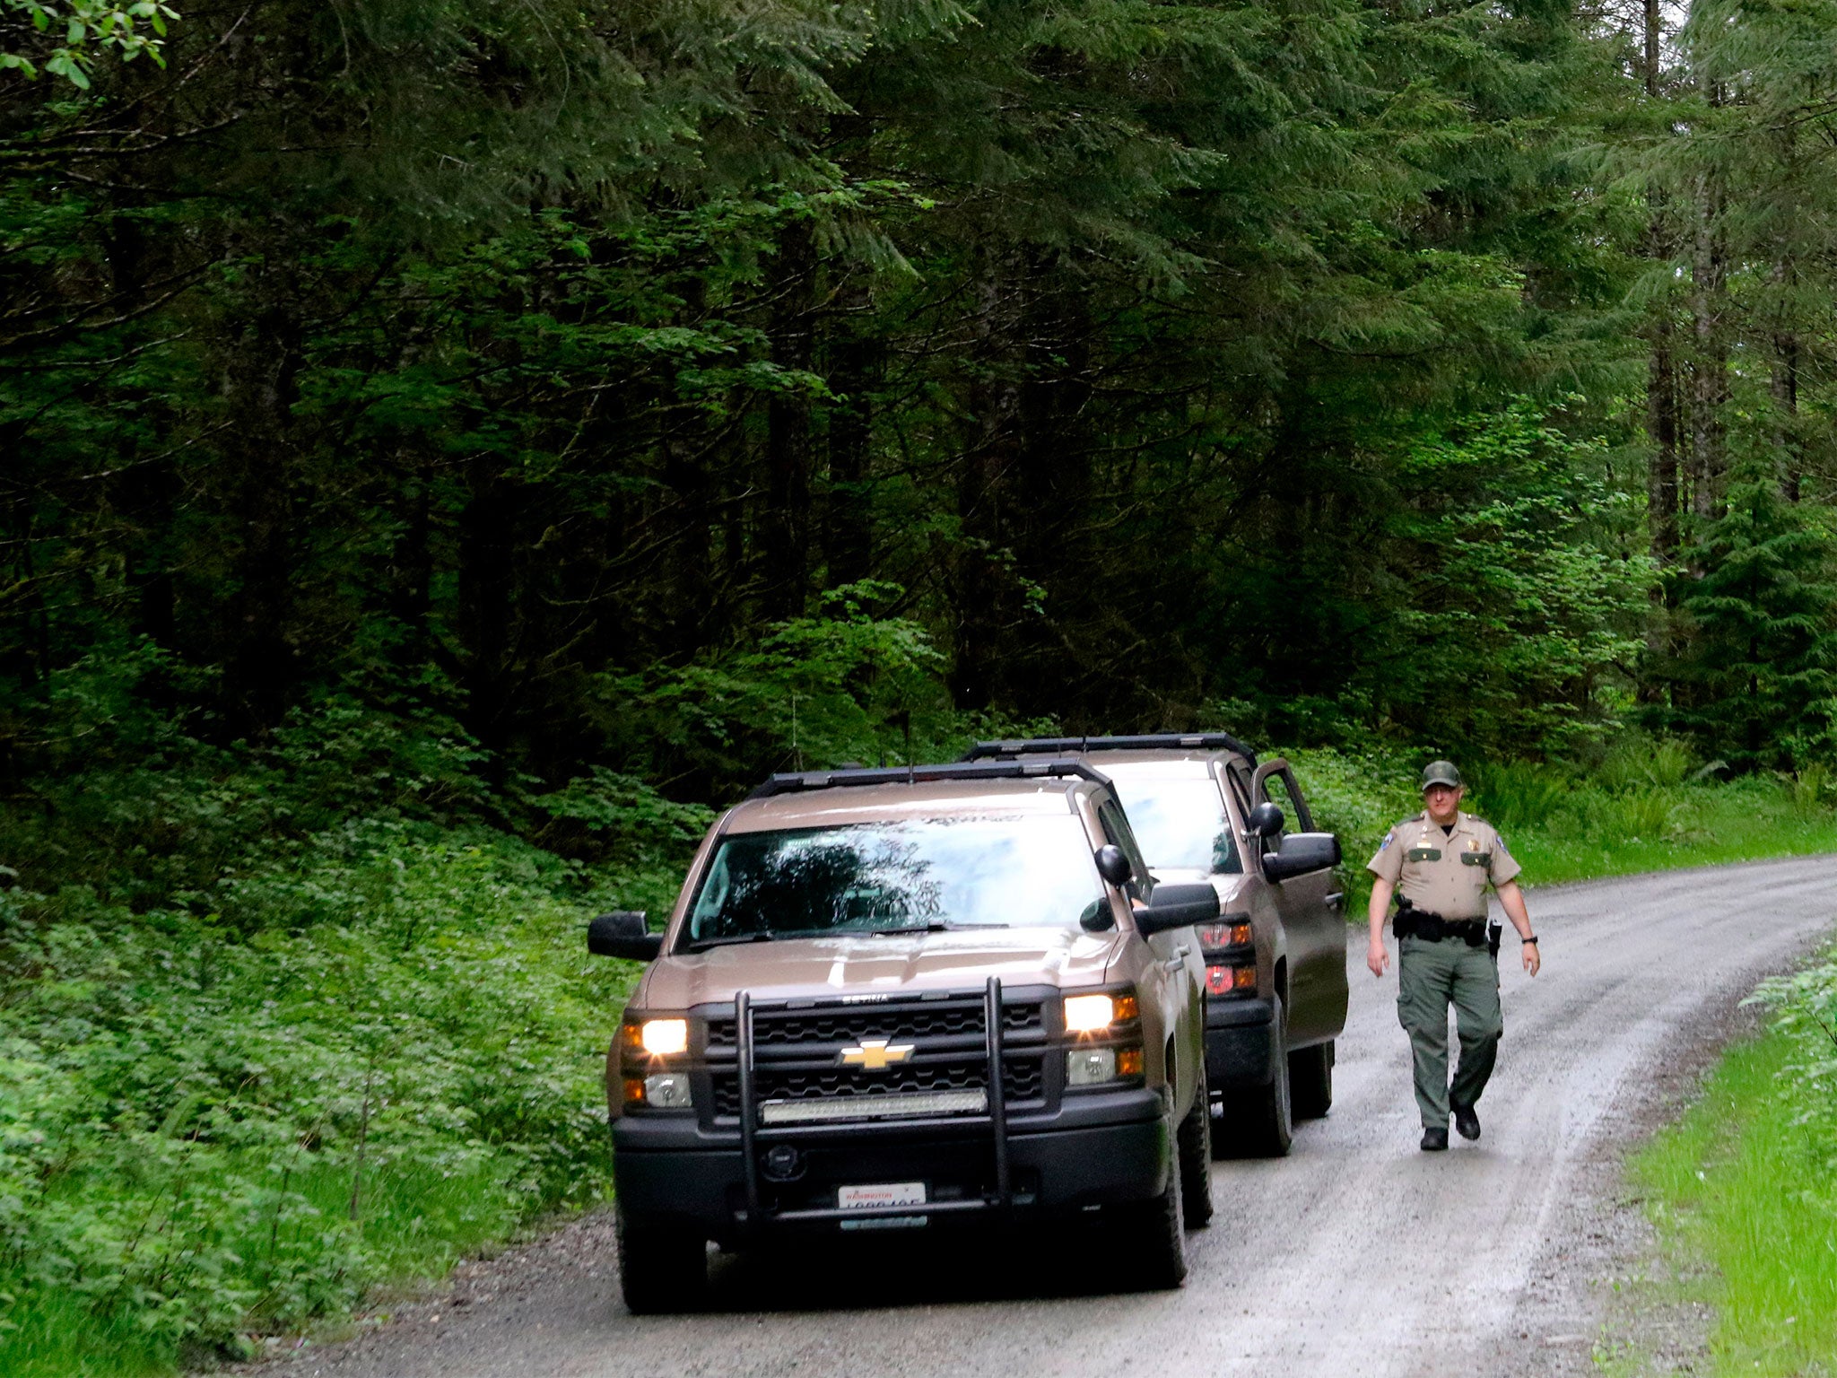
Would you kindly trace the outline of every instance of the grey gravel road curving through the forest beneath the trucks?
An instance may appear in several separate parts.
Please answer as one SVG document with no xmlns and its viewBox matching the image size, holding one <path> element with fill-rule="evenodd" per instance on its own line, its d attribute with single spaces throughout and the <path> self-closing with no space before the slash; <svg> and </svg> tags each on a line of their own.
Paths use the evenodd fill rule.
<svg viewBox="0 0 1837 1378">
<path fill-rule="evenodd" d="M 1416 1150 L 1394 970 L 1354 933 L 1332 1115 L 1280 1161 L 1218 1163 L 1220 1213 L 1170 1293 L 1075 1240 L 911 1237 L 873 1251 L 722 1259 L 716 1310 L 634 1319 L 604 1216 L 490 1262 L 268 1378 L 713 1374 L 1550 1374 L 1589 1371 L 1596 1220 L 1651 1088 L 1705 1060 L 1729 1011 L 1837 921 L 1837 858 L 1677 871 L 1530 895 L 1543 974 L 1505 966 L 1484 1135 Z M 1510 955 L 1512 950 L 1501 955 Z M 1626 1211 L 1622 1209 L 1622 1214 Z M 1591 1248 L 1589 1238 L 1596 1240 Z"/>
</svg>

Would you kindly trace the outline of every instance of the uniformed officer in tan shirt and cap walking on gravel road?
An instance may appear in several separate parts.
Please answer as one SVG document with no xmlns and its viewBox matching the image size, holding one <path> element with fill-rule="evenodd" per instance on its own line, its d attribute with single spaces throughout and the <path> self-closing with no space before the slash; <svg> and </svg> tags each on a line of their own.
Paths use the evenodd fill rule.
<svg viewBox="0 0 1837 1378">
<path fill-rule="evenodd" d="M 1398 895 L 1392 928 L 1398 937 L 1396 1014 L 1414 1053 L 1422 1148 L 1448 1148 L 1448 1112 L 1464 1139 L 1481 1137 L 1473 1112 L 1492 1077 L 1505 1023 L 1499 1016 L 1499 930 L 1486 932 L 1486 884 L 1499 893 L 1517 930 L 1525 970 L 1538 974 L 1538 937 L 1517 887 L 1519 865 L 1492 823 L 1460 812 L 1460 772 L 1431 761 L 1422 772 L 1416 818 L 1385 834 L 1367 864 L 1376 880 L 1370 902 L 1370 944 L 1365 965 L 1383 976 L 1391 955 L 1383 921 Z M 1460 1064 L 1448 1080 L 1448 1007 L 1455 1007 Z"/>
</svg>

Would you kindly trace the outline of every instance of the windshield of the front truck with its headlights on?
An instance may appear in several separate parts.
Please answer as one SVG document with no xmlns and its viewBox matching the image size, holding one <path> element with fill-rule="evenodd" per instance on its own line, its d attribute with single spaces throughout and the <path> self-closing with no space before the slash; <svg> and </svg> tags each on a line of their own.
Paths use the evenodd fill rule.
<svg viewBox="0 0 1837 1378">
<path fill-rule="evenodd" d="M 689 941 L 1064 928 L 1102 902 L 1069 814 L 738 832 L 696 891 Z"/>
</svg>

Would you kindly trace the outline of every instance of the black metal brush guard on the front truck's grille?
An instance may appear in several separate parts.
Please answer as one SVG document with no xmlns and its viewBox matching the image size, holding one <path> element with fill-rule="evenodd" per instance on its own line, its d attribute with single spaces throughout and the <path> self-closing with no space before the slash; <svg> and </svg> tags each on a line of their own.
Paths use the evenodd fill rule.
<svg viewBox="0 0 1837 1378">
<path fill-rule="evenodd" d="M 996 1216 L 1007 1216 L 1014 1207 L 1014 1185 L 1009 1178 L 1009 1104 L 1007 1104 L 1007 1079 L 1003 1077 L 1003 1009 L 1001 1009 L 1001 979 L 996 976 L 988 977 L 988 985 L 983 987 L 983 1056 L 988 1066 L 986 1084 L 988 1084 L 988 1110 L 981 1115 L 913 1115 L 909 1119 L 898 1121 L 840 1121 L 823 1124 L 783 1124 L 766 1126 L 759 1123 L 759 1101 L 753 1093 L 755 1067 L 753 1067 L 753 998 L 749 992 L 740 990 L 735 996 L 735 1038 L 737 1038 L 737 1062 L 740 1079 L 740 1158 L 746 1161 L 746 1214 L 738 1222 L 746 1229 L 762 1229 L 772 1224 L 819 1224 L 827 1220 L 882 1220 L 882 1218 L 909 1218 L 909 1216 L 941 1216 L 941 1214 L 975 1214 L 992 1213 Z M 759 1148 L 761 1145 L 770 1145 L 777 1141 L 795 1143 L 797 1139 L 814 1139 L 827 1134 L 834 1134 L 838 1126 L 845 1126 L 849 1134 L 880 1134 L 880 1132 L 898 1132 L 913 1128 L 975 1128 L 988 1126 L 990 1135 L 990 1154 L 994 1156 L 996 1169 L 996 1189 L 992 1194 L 985 1194 L 981 1200 L 961 1200 L 961 1202 L 926 1202 L 924 1205 L 885 1205 L 885 1207 L 863 1207 L 863 1209 L 843 1209 L 843 1207 L 823 1207 L 823 1209 L 797 1209 L 797 1211 L 773 1211 L 772 1214 L 762 1214 L 759 1202 Z"/>
</svg>

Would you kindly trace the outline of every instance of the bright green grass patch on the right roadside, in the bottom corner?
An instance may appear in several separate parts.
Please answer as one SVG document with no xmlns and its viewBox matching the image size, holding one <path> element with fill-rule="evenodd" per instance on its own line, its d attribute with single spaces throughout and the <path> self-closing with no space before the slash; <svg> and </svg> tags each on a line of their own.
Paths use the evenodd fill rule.
<svg viewBox="0 0 1837 1378">
<path fill-rule="evenodd" d="M 1714 1308 L 1716 1374 L 1837 1372 L 1833 1106 L 1800 1095 L 1800 1053 L 1778 1027 L 1738 1044 L 1631 1165 L 1690 1299 Z"/>
</svg>

